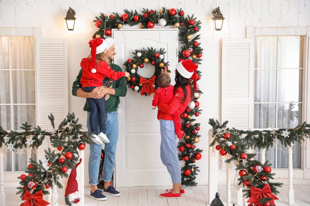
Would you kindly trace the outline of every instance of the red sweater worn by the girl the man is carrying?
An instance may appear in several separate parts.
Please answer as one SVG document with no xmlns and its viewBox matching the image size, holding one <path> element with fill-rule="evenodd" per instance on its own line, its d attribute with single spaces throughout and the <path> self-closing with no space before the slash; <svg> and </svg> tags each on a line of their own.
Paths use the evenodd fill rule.
<svg viewBox="0 0 310 206">
<path fill-rule="evenodd" d="M 82 87 L 87 86 L 102 86 L 102 81 L 105 76 L 110 79 L 116 81 L 121 77 L 125 77 L 125 72 L 115 72 L 111 69 L 111 67 L 105 61 L 99 61 L 96 66 L 96 73 L 92 73 L 91 69 L 93 68 L 92 61 L 89 58 L 84 58 L 81 61 L 82 67 L 82 77 L 81 77 L 81 84 Z"/>
</svg>

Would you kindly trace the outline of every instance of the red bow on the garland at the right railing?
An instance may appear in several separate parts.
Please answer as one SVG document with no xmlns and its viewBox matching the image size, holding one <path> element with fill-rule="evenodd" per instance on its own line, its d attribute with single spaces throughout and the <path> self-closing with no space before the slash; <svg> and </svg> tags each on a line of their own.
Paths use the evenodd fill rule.
<svg viewBox="0 0 310 206">
<path fill-rule="evenodd" d="M 270 185 L 267 183 L 263 186 L 263 189 L 259 189 L 257 187 L 250 187 L 250 193 L 251 193 L 251 197 L 250 199 L 247 201 L 248 203 L 253 203 L 254 205 L 259 204 L 259 200 L 261 198 L 263 198 L 262 195 L 264 195 L 264 198 L 268 198 L 271 197 L 273 200 L 270 200 L 270 204 L 274 204 L 274 200 L 279 200 L 276 195 L 273 195 L 271 193 L 271 189 L 270 189 Z"/>
</svg>

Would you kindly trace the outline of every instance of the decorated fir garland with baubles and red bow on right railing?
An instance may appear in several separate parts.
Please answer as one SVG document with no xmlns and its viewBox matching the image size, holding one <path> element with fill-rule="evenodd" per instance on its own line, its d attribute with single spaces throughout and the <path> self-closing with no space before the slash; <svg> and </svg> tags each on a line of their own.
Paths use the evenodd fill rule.
<svg viewBox="0 0 310 206">
<path fill-rule="evenodd" d="M 210 147 L 212 147 L 212 154 L 215 155 L 214 148 L 219 150 L 219 154 L 226 156 L 231 155 L 231 158 L 225 160 L 229 167 L 234 168 L 233 160 L 237 161 L 236 173 L 239 171 L 240 178 L 238 179 L 239 190 L 246 186 L 246 197 L 250 197 L 247 201 L 250 206 L 275 205 L 274 200 L 278 198 L 275 196 L 279 193 L 277 187 L 281 187 L 283 183 L 273 183 L 270 179 L 275 173 L 271 173 L 268 161 L 262 163 L 258 160 L 251 160 L 256 156 L 253 153 L 247 153 L 249 149 L 265 148 L 277 146 L 278 141 L 286 147 L 291 147 L 295 141 L 302 143 L 304 138 L 310 136 L 310 124 L 304 122 L 295 128 L 287 129 L 272 129 L 272 130 L 238 130 L 235 128 L 226 128 L 228 121 L 220 124 L 218 120 L 209 119 L 209 124 L 212 129 L 209 130 Z M 241 138 L 241 135 L 246 134 Z M 215 144 L 218 144 L 215 146 Z M 237 175 L 237 174 L 236 174 Z M 263 196 L 262 196 L 263 194 Z"/>
</svg>

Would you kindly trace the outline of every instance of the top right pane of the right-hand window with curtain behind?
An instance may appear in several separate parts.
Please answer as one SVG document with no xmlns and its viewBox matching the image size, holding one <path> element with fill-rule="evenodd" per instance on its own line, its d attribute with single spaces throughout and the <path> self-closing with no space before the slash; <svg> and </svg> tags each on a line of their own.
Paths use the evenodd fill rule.
<svg viewBox="0 0 310 206">
<path fill-rule="evenodd" d="M 300 36 L 279 36 L 277 68 L 299 68 Z"/>
</svg>

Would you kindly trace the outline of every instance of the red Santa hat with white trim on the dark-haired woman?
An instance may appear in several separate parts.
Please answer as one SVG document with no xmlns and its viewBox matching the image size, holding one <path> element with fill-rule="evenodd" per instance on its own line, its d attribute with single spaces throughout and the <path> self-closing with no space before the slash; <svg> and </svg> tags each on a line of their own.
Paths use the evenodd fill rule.
<svg viewBox="0 0 310 206">
<path fill-rule="evenodd" d="M 196 70 L 198 66 L 194 65 L 193 61 L 190 59 L 181 61 L 176 64 L 176 70 L 181 74 L 184 78 L 192 78 L 194 83 L 193 87 L 195 88 L 195 92 L 197 92 L 197 83 L 196 83 Z"/>
</svg>

